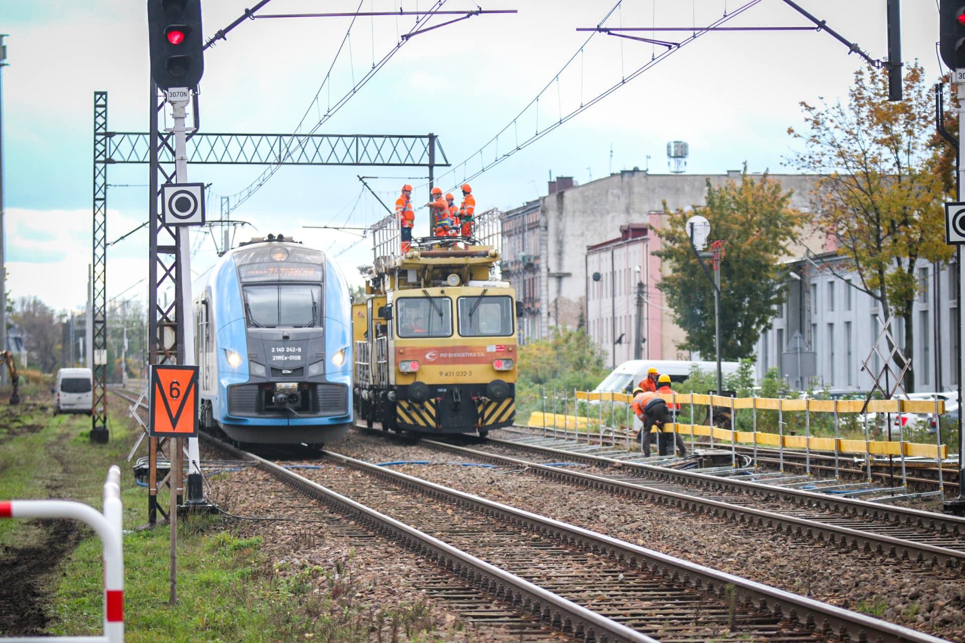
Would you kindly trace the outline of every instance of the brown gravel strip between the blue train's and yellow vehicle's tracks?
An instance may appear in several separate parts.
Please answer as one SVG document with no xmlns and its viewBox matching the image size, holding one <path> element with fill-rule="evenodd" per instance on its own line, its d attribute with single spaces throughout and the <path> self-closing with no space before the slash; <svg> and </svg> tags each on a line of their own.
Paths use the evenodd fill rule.
<svg viewBox="0 0 965 643">
<path fill-rule="evenodd" d="M 434 463 L 393 469 L 953 641 L 965 640 L 965 579 L 956 571 L 841 551 L 517 469 L 463 467 L 460 463 L 478 461 L 354 431 L 331 447 L 375 463 Z"/>
</svg>

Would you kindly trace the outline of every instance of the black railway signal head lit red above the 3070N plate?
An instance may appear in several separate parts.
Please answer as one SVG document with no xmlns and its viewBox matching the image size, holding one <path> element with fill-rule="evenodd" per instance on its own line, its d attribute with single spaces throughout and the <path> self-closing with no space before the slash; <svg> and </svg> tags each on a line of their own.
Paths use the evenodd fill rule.
<svg viewBox="0 0 965 643">
<path fill-rule="evenodd" d="M 205 72 L 201 0 L 148 0 L 148 40 L 157 87 L 197 86 Z"/>
</svg>

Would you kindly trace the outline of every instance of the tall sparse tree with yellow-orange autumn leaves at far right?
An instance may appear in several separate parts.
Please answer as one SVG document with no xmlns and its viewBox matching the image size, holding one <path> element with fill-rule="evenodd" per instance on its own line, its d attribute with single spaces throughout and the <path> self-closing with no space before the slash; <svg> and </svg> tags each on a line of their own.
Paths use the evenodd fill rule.
<svg viewBox="0 0 965 643">
<path fill-rule="evenodd" d="M 884 69 L 855 72 L 848 103 L 801 103 L 806 131 L 788 133 L 805 144 L 792 165 L 818 174 L 812 196 L 815 223 L 838 242 L 851 285 L 880 310 L 904 319 L 904 350 L 911 356 L 911 311 L 921 285 L 919 259 L 946 262 L 942 202 L 954 184 L 947 151 L 932 140 L 934 107 L 917 62 L 905 67 L 904 100 L 888 100 Z M 899 366 L 902 364 L 898 364 Z M 908 371 L 905 388 L 915 386 Z"/>
</svg>

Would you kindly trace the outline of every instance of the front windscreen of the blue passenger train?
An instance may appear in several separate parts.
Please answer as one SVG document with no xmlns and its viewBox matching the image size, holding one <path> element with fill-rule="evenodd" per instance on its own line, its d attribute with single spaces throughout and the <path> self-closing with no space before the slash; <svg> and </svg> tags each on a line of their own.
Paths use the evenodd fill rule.
<svg viewBox="0 0 965 643">
<path fill-rule="evenodd" d="M 321 288 L 248 285 L 244 308 L 249 328 L 316 328 L 321 325 Z"/>
</svg>

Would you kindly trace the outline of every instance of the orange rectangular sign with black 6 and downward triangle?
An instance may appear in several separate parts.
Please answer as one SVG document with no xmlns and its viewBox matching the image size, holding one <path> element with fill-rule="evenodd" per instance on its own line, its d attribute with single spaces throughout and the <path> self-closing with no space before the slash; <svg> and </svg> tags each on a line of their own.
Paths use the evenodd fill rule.
<svg viewBox="0 0 965 643">
<path fill-rule="evenodd" d="M 197 366 L 152 365 L 148 428 L 152 437 L 197 435 Z"/>
</svg>

